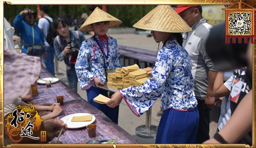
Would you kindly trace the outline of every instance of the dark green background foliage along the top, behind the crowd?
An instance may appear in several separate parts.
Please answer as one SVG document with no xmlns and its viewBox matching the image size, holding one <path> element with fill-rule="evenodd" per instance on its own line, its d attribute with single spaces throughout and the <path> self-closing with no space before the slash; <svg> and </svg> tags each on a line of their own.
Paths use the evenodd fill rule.
<svg viewBox="0 0 256 148">
<path fill-rule="evenodd" d="M 119 27 L 132 27 L 145 14 L 155 8 L 156 5 L 107 5 L 107 12 L 122 20 Z M 80 19 L 82 13 L 89 15 L 89 5 L 48 5 L 50 16 L 66 17 L 69 20 Z M 4 3 L 4 17 L 13 25 L 13 19 L 24 8 L 30 8 L 37 12 L 37 5 L 8 5 Z"/>
</svg>

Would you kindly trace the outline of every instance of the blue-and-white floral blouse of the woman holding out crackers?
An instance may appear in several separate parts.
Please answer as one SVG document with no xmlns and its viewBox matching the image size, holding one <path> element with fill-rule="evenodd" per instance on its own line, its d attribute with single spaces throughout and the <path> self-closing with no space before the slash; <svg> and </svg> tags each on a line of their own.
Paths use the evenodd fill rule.
<svg viewBox="0 0 256 148">
<path fill-rule="evenodd" d="M 161 95 L 161 108 L 187 111 L 196 107 L 189 54 L 171 37 L 159 51 L 152 78 L 120 91 L 131 111 L 141 116 Z"/>
</svg>

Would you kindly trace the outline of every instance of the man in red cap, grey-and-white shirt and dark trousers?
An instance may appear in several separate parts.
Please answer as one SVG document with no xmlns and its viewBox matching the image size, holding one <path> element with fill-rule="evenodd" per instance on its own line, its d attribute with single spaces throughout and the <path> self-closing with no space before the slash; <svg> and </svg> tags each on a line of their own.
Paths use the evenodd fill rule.
<svg viewBox="0 0 256 148">
<path fill-rule="evenodd" d="M 195 143 L 202 143 L 209 139 L 210 109 L 216 105 L 213 84 L 217 73 L 214 70 L 214 63 L 205 50 L 206 39 L 212 26 L 202 18 L 200 5 L 177 5 L 175 11 L 192 28 L 192 31 L 183 33 L 182 36 L 183 47 L 191 57 L 193 90 L 198 101 L 200 116 Z"/>
</svg>

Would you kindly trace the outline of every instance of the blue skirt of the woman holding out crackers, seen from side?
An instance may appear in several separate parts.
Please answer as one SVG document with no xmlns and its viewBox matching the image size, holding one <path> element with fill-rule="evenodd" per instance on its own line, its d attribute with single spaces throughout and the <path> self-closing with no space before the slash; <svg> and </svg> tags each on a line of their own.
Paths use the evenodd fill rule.
<svg viewBox="0 0 256 148">
<path fill-rule="evenodd" d="M 192 111 L 165 110 L 158 126 L 155 143 L 194 144 L 198 123 L 197 108 Z"/>
</svg>

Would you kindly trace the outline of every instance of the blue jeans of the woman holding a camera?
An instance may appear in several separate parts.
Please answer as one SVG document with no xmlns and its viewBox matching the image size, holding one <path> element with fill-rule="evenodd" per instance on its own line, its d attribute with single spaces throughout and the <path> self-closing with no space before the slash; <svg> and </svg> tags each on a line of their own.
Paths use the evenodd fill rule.
<svg viewBox="0 0 256 148">
<path fill-rule="evenodd" d="M 67 71 L 68 86 L 77 93 L 77 75 L 75 73 L 74 64 L 71 64 L 71 68 Z"/>
</svg>

